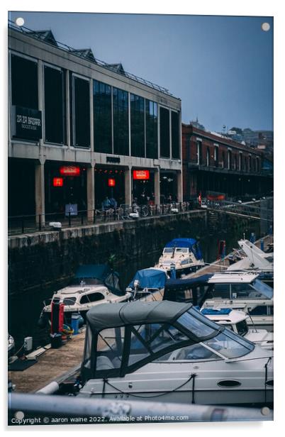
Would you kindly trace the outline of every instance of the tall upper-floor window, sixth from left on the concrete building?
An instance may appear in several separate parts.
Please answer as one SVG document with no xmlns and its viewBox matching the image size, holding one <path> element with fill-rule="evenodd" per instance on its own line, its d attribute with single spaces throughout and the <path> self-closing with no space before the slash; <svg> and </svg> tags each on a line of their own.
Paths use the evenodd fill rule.
<svg viewBox="0 0 285 437">
<path fill-rule="evenodd" d="M 145 157 L 145 99 L 130 94 L 130 143 L 132 156 Z"/>
</svg>

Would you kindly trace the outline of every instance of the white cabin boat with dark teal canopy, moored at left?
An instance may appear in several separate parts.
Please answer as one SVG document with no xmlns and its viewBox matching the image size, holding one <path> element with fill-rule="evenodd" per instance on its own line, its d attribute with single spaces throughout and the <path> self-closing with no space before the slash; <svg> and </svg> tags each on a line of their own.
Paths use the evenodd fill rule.
<svg viewBox="0 0 285 437">
<path fill-rule="evenodd" d="M 55 299 L 64 304 L 65 323 L 69 324 L 72 314 L 79 313 L 85 320 L 86 312 L 93 306 L 127 302 L 131 297 L 129 292 L 121 291 L 118 273 L 108 265 L 82 265 L 68 287 L 55 292 L 50 302 L 44 302 L 40 322 L 50 319 Z"/>
</svg>

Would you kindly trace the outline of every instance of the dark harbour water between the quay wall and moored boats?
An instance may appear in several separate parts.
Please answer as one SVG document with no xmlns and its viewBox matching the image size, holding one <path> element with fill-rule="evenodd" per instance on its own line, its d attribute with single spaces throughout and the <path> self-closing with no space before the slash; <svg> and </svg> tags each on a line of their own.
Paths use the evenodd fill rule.
<svg viewBox="0 0 285 437">
<path fill-rule="evenodd" d="M 220 232 L 207 238 L 201 237 L 200 245 L 204 261 L 213 262 L 217 259 L 219 240 L 225 240 L 226 253 L 230 253 L 233 248 L 238 247 L 237 241 L 242 237 L 242 235 L 227 232 Z M 246 236 L 246 238 L 249 238 L 249 236 Z M 145 255 L 142 259 L 128 262 L 128 267 L 115 265 L 121 277 L 122 288 L 127 287 L 137 270 L 152 267 L 157 263 L 159 257 L 160 252 L 151 253 Z M 27 292 L 9 300 L 9 333 L 16 341 L 16 350 L 21 348 L 23 338 L 27 336 L 33 337 L 34 348 L 49 343 L 47 331 L 38 327 L 38 319 L 43 309 L 43 301 L 52 297 L 54 292 L 54 287 L 43 289 L 39 285 L 38 289 L 33 290 L 33 292 Z"/>
</svg>

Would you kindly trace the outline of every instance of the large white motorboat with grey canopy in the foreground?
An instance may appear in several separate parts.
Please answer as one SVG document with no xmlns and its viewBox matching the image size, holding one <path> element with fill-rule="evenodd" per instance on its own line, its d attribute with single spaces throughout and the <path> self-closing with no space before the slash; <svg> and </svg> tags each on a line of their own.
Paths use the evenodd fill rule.
<svg viewBox="0 0 285 437">
<path fill-rule="evenodd" d="M 272 351 L 192 304 L 128 302 L 86 314 L 79 397 L 196 404 L 273 402 Z"/>
</svg>

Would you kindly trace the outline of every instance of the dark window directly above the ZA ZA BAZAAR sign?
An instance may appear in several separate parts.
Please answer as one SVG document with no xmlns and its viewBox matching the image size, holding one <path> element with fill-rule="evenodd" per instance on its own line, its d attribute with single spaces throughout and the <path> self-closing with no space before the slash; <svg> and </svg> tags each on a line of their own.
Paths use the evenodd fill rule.
<svg viewBox="0 0 285 437">
<path fill-rule="evenodd" d="M 12 104 L 38 109 L 38 63 L 11 55 Z"/>
</svg>

